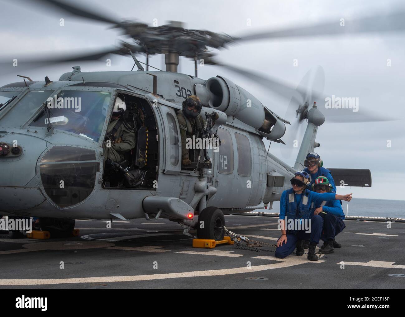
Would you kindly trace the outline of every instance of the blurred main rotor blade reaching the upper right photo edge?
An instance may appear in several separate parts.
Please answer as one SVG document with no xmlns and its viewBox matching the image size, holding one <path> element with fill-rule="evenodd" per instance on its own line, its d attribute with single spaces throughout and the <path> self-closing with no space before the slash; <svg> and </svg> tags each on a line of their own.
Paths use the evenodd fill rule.
<svg viewBox="0 0 405 317">
<path fill-rule="evenodd" d="M 344 26 L 341 26 L 341 23 L 343 23 L 343 21 L 337 18 L 333 22 L 322 23 L 314 26 L 304 26 L 284 30 L 268 30 L 256 34 L 246 34 L 239 38 L 234 38 L 234 40 L 248 41 L 271 38 L 403 31 L 405 30 L 405 11 L 390 13 L 387 15 L 364 17 L 353 21 L 350 19 L 344 19 Z"/>
</svg>

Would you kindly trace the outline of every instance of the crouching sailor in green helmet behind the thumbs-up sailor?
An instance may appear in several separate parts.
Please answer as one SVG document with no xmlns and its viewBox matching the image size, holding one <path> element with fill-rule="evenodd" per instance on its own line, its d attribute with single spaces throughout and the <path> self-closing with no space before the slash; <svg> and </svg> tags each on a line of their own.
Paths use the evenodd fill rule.
<svg viewBox="0 0 405 317">
<path fill-rule="evenodd" d="M 330 192 L 331 189 L 332 186 L 326 177 L 320 176 L 315 179 L 313 190 L 317 193 L 323 194 Z M 343 213 L 339 200 L 323 201 L 320 204 L 314 204 L 313 213 L 314 215 L 321 215 L 324 219 L 323 232 L 321 234 L 321 239 L 324 241 L 324 244 L 320 251 L 324 254 L 328 254 L 333 253 L 334 248 L 341 248 L 342 245 L 336 242 L 335 237 L 342 232 L 346 226 L 343 222 L 343 220 L 345 220 L 345 214 Z"/>
</svg>

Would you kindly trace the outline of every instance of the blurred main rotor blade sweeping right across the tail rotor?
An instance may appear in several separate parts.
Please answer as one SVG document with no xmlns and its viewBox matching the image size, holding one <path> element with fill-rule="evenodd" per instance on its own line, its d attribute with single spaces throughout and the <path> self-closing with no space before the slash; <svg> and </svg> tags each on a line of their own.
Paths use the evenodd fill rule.
<svg viewBox="0 0 405 317">
<path fill-rule="evenodd" d="M 270 77 L 264 77 L 261 74 L 252 72 L 251 70 L 241 69 L 235 66 L 222 64 L 217 62 L 217 66 L 221 66 L 245 78 L 251 79 L 255 83 L 261 85 L 262 87 L 271 90 L 273 93 L 278 94 L 284 98 L 290 99 L 292 96 L 296 96 L 297 92 L 305 98 L 307 96 L 307 89 L 302 87 L 293 88 L 291 85 L 283 83 L 278 79 L 273 79 Z M 309 101 L 309 107 L 312 106 L 313 102 L 316 101 L 318 104 L 318 109 L 324 114 L 325 121 L 335 122 L 335 123 L 350 123 L 350 122 L 377 122 L 377 121 L 392 121 L 394 118 L 387 117 L 378 113 L 367 110 L 367 105 L 362 105 L 356 109 L 353 109 L 355 105 L 351 108 L 339 109 L 335 104 L 330 108 L 326 107 L 326 98 L 331 98 L 332 96 L 327 96 L 325 94 L 319 94 L 315 91 L 311 92 L 312 100 Z M 332 99 L 332 98 L 331 98 Z M 356 100 L 355 100 L 356 101 Z M 332 100 L 331 100 L 332 102 Z M 286 118 L 287 120 L 290 118 Z"/>
</svg>

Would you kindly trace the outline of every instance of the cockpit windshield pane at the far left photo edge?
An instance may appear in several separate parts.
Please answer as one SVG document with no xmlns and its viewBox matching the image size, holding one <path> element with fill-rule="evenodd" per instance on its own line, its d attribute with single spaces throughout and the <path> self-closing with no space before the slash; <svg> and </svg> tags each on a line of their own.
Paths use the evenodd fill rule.
<svg viewBox="0 0 405 317">
<path fill-rule="evenodd" d="M 15 91 L 13 91 L 15 93 Z M 4 92 L 3 92 L 4 93 Z M 51 90 L 29 91 L 17 104 L 1 118 L 3 127 L 20 127 L 34 115 L 38 108 L 53 93 Z"/>
</svg>

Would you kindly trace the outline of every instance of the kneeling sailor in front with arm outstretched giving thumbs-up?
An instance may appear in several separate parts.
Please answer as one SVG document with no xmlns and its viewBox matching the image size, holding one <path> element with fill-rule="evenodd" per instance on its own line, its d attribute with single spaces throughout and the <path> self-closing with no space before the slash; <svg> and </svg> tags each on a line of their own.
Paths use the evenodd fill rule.
<svg viewBox="0 0 405 317">
<path fill-rule="evenodd" d="M 337 195 L 333 193 L 318 194 L 307 189 L 309 174 L 298 171 L 291 179 L 292 188 L 283 191 L 280 198 L 279 228 L 281 237 L 277 241 L 275 256 L 284 258 L 297 248 L 296 255 L 304 254 L 303 240 L 310 238 L 308 260 L 317 261 L 315 247 L 319 243 L 323 219 L 320 215 L 314 215 L 313 208 L 322 201 L 352 199 L 352 194 Z M 303 225 L 309 224 L 309 226 Z"/>
</svg>

